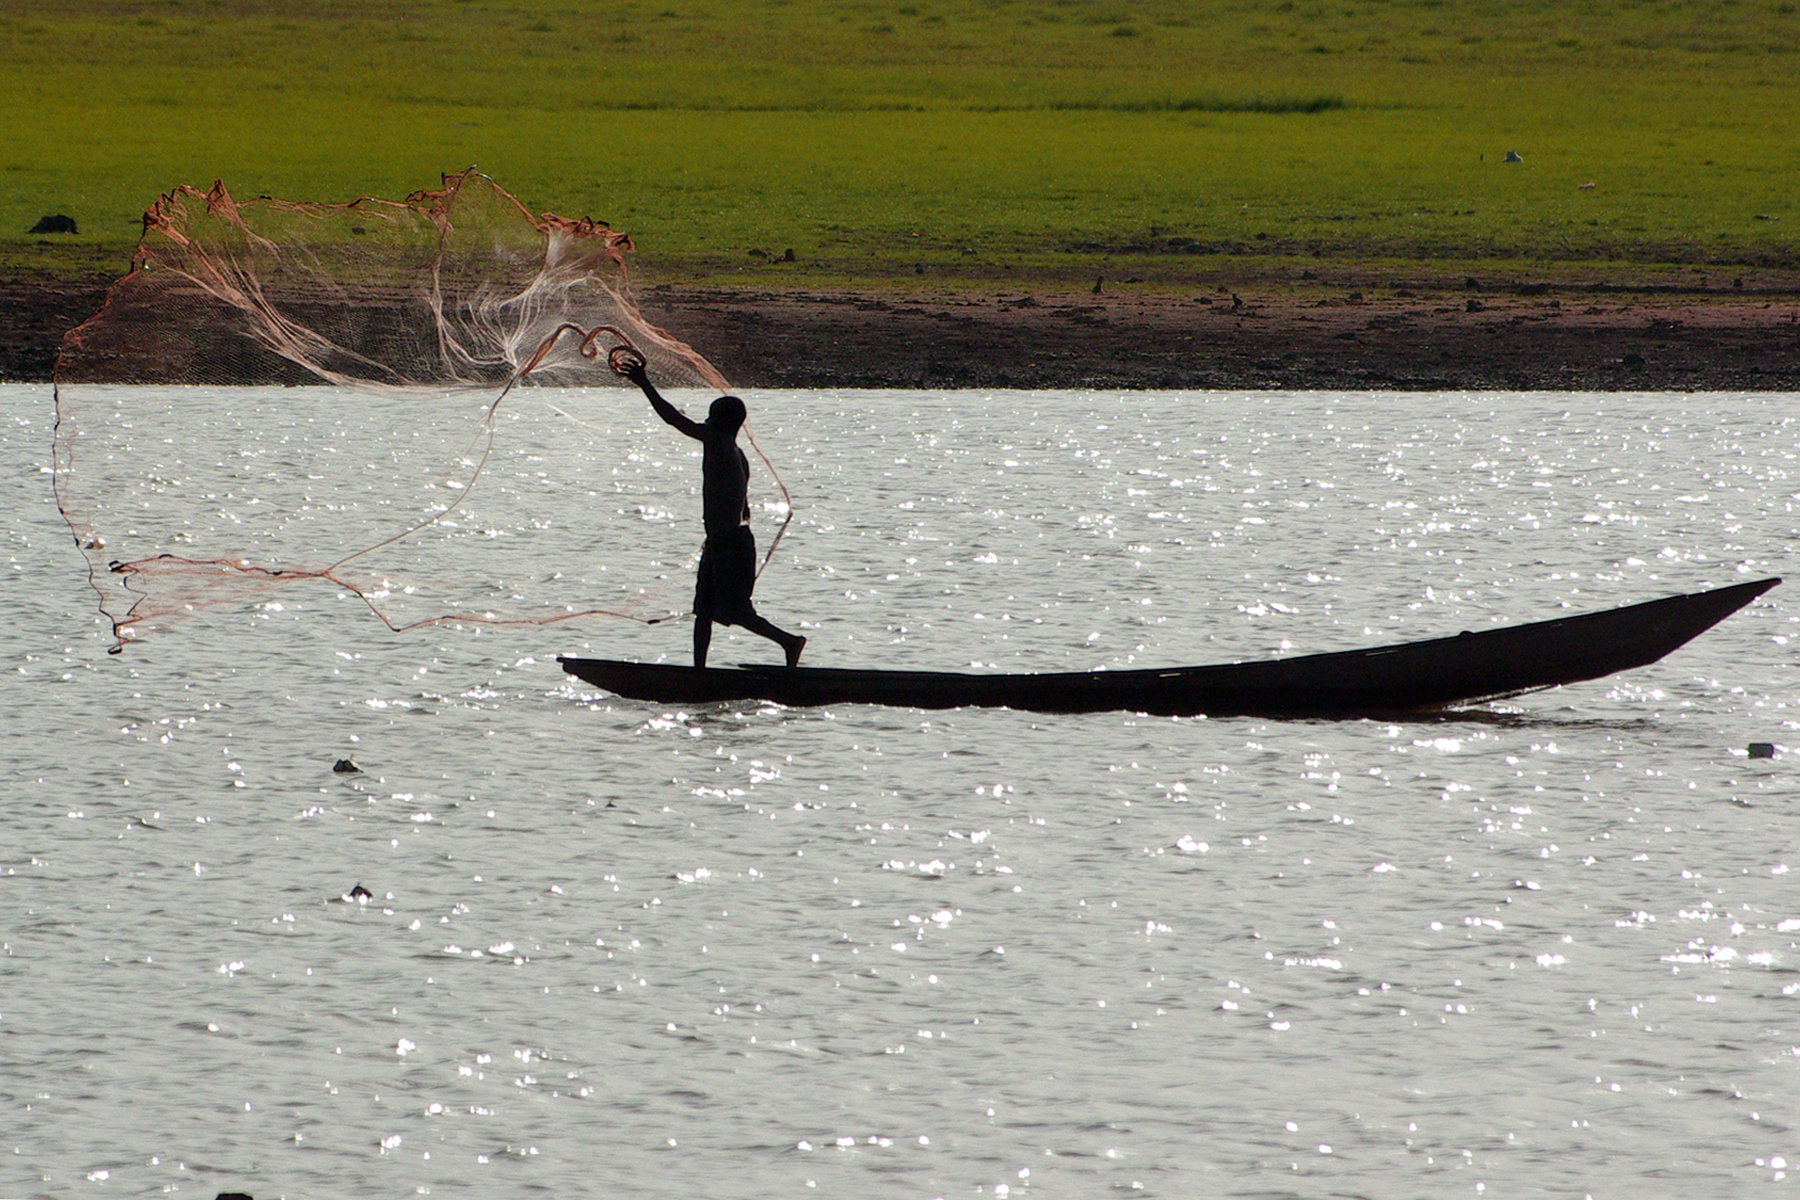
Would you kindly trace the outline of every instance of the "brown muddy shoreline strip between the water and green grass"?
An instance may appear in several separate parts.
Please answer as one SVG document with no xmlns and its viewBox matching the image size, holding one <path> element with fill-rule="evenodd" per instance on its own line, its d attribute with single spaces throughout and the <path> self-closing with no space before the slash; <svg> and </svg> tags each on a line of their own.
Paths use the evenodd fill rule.
<svg viewBox="0 0 1800 1200">
<path fill-rule="evenodd" d="M 108 282 L 0 282 L 0 381 L 47 381 Z M 1800 390 L 1800 279 L 1714 291 L 1354 275 L 1184 293 L 661 284 L 639 300 L 745 389 Z"/>
</svg>

